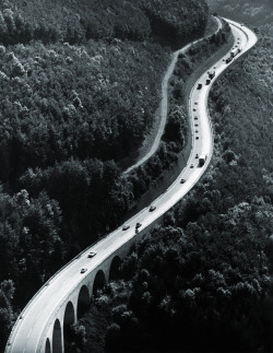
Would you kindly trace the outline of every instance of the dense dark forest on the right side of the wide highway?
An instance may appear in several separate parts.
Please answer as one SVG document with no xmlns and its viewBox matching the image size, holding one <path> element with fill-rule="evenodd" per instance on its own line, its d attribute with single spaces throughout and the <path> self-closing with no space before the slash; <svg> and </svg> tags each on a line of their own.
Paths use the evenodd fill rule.
<svg viewBox="0 0 273 353">
<path fill-rule="evenodd" d="M 213 85 L 205 176 L 72 330 L 80 352 L 272 352 L 272 37 Z M 95 329 L 94 329 L 95 327 Z M 106 331 L 106 334 L 105 334 Z"/>
</svg>

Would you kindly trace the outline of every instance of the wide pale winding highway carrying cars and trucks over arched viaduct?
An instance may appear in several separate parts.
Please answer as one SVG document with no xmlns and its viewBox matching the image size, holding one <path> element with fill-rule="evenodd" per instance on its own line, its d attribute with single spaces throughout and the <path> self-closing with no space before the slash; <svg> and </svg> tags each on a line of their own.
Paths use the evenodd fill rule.
<svg viewBox="0 0 273 353">
<path fill-rule="evenodd" d="M 169 188 L 153 201 L 155 209 L 143 209 L 136 215 L 128 220 L 130 226 L 123 231 L 119 227 L 94 246 L 84 250 L 80 256 L 70 261 L 61 271 L 57 272 L 33 297 L 19 317 L 7 343 L 5 353 L 37 353 L 52 352 L 46 348 L 46 340 L 49 337 L 49 328 L 52 327 L 56 313 L 60 310 L 70 293 L 83 281 L 83 279 L 95 272 L 97 267 L 115 254 L 122 245 L 131 238 L 138 236 L 135 224 L 141 223 L 140 231 L 143 232 L 153 225 L 158 217 L 166 213 L 176 204 L 201 178 L 204 174 L 213 152 L 213 136 L 211 120 L 207 113 L 207 95 L 213 81 L 229 66 L 249 50 L 257 42 L 256 35 L 246 26 L 225 19 L 232 27 L 235 44 L 240 45 L 241 51 L 226 63 L 225 59 L 230 57 L 230 52 L 219 61 L 215 62 L 211 70 L 215 71 L 215 77 L 207 85 L 207 72 L 203 73 L 190 94 L 190 118 L 192 125 L 192 150 L 188 164 L 181 170 L 179 177 Z M 202 89 L 198 90 L 198 84 L 202 83 Z M 197 126 L 195 126 L 197 125 Z M 199 166 L 198 155 L 205 154 L 206 162 Z M 185 183 L 181 184 L 181 179 Z M 87 258 L 90 251 L 95 251 L 96 256 Z M 82 268 L 86 268 L 85 273 L 80 273 Z M 50 331 L 51 332 L 51 331 Z M 62 352 L 63 349 L 60 351 Z M 55 350 L 54 350 L 55 352 Z"/>
</svg>

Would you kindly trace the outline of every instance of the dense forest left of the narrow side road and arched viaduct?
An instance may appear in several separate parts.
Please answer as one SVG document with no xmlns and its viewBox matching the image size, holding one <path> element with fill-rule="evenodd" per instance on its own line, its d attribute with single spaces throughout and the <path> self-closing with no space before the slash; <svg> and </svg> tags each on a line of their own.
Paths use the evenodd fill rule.
<svg viewBox="0 0 273 353">
<path fill-rule="evenodd" d="M 0 351 L 43 283 L 149 187 L 122 170 L 156 118 L 171 51 L 203 35 L 207 11 L 203 0 L 1 1 Z M 167 128 L 163 167 L 187 134 L 171 123 L 181 133 Z"/>
</svg>

